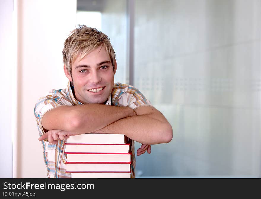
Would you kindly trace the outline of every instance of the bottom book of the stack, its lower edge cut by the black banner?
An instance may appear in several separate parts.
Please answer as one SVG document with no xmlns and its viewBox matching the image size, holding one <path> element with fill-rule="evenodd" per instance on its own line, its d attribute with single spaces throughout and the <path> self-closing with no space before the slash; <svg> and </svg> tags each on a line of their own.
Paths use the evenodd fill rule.
<svg viewBox="0 0 261 199">
<path fill-rule="evenodd" d="M 130 178 L 130 175 L 131 172 L 72 172 L 71 178 Z"/>
</svg>

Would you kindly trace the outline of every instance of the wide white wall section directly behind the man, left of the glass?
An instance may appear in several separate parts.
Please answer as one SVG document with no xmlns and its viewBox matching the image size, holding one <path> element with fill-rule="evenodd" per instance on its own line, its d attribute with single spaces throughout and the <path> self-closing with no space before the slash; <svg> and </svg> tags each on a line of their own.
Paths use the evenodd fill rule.
<svg viewBox="0 0 261 199">
<path fill-rule="evenodd" d="M 19 0 L 17 176 L 45 178 L 42 145 L 34 118 L 36 100 L 63 89 L 63 42 L 76 22 L 76 0 Z"/>
</svg>

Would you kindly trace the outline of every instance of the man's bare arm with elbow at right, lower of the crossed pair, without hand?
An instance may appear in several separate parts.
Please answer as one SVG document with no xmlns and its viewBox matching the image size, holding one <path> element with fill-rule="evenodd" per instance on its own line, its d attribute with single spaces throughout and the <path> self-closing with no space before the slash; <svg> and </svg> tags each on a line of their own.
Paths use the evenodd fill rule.
<svg viewBox="0 0 261 199">
<path fill-rule="evenodd" d="M 162 113 L 152 106 L 140 106 L 134 111 L 137 116 L 122 118 L 95 132 L 125 134 L 149 145 L 171 141 L 172 127 Z"/>
</svg>

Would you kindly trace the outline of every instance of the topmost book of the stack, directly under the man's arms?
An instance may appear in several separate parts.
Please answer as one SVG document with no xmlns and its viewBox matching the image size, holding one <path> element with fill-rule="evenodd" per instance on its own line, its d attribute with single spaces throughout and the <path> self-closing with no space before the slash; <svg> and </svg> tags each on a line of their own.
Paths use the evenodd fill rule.
<svg viewBox="0 0 261 199">
<path fill-rule="evenodd" d="M 66 143 L 88 143 L 88 144 L 126 144 L 129 138 L 124 134 L 100 134 L 85 133 L 70 136 L 66 139 Z"/>
</svg>

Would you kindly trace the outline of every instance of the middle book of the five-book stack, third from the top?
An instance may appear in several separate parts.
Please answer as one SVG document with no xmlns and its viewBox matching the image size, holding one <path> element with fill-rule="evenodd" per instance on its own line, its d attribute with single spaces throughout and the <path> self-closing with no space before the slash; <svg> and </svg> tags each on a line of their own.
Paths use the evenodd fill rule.
<svg viewBox="0 0 261 199">
<path fill-rule="evenodd" d="M 66 153 L 68 162 L 130 162 L 130 153 Z"/>
</svg>

